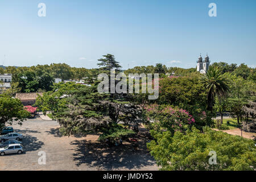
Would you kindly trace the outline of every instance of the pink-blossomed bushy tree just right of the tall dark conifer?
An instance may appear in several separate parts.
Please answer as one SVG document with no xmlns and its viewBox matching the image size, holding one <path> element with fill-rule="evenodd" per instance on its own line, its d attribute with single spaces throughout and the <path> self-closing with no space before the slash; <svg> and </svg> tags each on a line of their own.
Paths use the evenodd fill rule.
<svg viewBox="0 0 256 182">
<path fill-rule="evenodd" d="M 154 131 L 184 132 L 195 123 L 188 111 L 177 107 L 153 104 L 144 106 L 144 110 L 146 119 L 151 122 L 150 126 Z"/>
</svg>

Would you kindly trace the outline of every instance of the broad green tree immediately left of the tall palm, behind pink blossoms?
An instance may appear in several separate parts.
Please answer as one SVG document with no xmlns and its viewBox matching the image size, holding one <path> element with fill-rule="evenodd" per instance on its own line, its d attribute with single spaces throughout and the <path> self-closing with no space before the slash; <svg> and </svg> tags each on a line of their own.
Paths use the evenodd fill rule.
<svg viewBox="0 0 256 182">
<path fill-rule="evenodd" d="M 199 76 L 167 77 L 159 81 L 159 98 L 154 102 L 189 111 L 198 121 L 197 126 L 203 127 L 213 124 L 206 98 L 207 90 L 200 84 Z"/>
</svg>

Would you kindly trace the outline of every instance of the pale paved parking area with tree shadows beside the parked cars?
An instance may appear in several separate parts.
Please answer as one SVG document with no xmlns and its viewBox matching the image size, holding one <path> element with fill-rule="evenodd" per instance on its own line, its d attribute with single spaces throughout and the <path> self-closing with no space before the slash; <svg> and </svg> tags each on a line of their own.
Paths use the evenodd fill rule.
<svg viewBox="0 0 256 182">
<path fill-rule="evenodd" d="M 0 170 L 157 170 L 146 151 L 146 140 L 139 140 L 137 151 L 129 143 L 106 148 L 97 135 L 61 137 L 56 121 L 28 119 L 14 132 L 24 135 L 23 154 L 0 156 Z M 38 152 L 46 152 L 46 164 L 39 164 Z"/>
</svg>

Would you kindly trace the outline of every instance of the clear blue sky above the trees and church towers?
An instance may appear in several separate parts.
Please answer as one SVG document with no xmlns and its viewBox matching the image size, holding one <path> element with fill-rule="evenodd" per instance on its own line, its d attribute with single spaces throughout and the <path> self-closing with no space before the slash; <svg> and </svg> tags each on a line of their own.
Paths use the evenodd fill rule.
<svg viewBox="0 0 256 182">
<path fill-rule="evenodd" d="M 209 3 L 217 5 L 210 17 Z M 46 4 L 46 17 L 38 4 Z M 67 63 L 96 68 L 111 53 L 124 69 L 210 60 L 256 65 L 254 0 L 0 1 L 0 65 Z"/>
</svg>

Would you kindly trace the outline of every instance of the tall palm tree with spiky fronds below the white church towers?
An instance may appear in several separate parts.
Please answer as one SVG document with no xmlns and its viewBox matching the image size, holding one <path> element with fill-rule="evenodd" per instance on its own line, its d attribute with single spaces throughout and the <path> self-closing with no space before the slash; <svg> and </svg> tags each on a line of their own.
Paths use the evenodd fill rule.
<svg viewBox="0 0 256 182">
<path fill-rule="evenodd" d="M 221 102 L 222 98 L 226 97 L 229 92 L 230 80 L 228 75 L 222 74 L 217 67 L 210 67 L 208 72 L 200 76 L 200 82 L 207 88 L 207 110 L 212 111 L 214 98 L 217 97 Z"/>
</svg>

